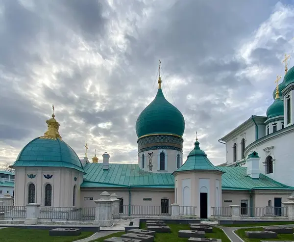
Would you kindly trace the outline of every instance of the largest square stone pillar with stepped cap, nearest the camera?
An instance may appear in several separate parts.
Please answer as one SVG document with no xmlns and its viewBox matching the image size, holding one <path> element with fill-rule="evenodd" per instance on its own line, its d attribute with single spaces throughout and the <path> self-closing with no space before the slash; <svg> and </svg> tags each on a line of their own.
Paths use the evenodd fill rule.
<svg viewBox="0 0 294 242">
<path fill-rule="evenodd" d="M 110 200 L 110 194 L 107 191 L 103 191 L 100 194 L 101 198 L 95 200 L 95 220 L 94 225 L 101 227 L 110 227 L 113 225 L 112 218 L 112 203 Z"/>
</svg>

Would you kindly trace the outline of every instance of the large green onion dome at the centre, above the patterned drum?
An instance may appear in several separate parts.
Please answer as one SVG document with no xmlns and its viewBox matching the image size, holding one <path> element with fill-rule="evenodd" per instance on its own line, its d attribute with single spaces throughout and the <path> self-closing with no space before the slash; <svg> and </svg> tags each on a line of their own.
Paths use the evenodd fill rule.
<svg viewBox="0 0 294 242">
<path fill-rule="evenodd" d="M 154 100 L 141 112 L 136 122 L 138 138 L 147 134 L 183 136 L 185 120 L 182 113 L 169 103 L 162 92 L 161 80 Z"/>
</svg>

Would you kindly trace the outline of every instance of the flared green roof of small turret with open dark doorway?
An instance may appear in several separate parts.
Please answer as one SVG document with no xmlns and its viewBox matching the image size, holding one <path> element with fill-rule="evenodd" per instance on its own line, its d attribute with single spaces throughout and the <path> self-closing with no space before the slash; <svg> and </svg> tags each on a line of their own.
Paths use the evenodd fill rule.
<svg viewBox="0 0 294 242">
<path fill-rule="evenodd" d="M 187 156 L 186 162 L 181 167 L 179 167 L 175 172 L 189 171 L 189 170 L 221 171 L 218 167 L 213 165 L 208 160 L 205 152 L 200 149 L 199 142 L 197 140 L 194 144 L 195 144 L 195 147 Z"/>
</svg>

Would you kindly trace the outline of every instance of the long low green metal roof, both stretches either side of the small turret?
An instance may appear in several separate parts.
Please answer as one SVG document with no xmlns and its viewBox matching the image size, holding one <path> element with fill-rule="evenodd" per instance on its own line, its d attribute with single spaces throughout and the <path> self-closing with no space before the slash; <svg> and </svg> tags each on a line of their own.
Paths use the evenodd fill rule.
<svg viewBox="0 0 294 242">
<path fill-rule="evenodd" d="M 85 165 L 82 188 L 174 188 L 172 173 L 153 173 L 140 169 L 138 164 L 109 164 L 108 170 L 102 169 L 102 163 L 87 163 Z M 247 176 L 247 167 L 218 166 L 222 172 L 222 189 L 281 189 L 292 190 L 269 177 L 260 174 L 259 179 Z"/>
</svg>

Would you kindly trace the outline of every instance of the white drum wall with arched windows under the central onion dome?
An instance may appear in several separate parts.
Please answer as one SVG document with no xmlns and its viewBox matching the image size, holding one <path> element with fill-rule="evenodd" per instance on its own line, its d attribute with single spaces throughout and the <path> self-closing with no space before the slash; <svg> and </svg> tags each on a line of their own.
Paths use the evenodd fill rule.
<svg viewBox="0 0 294 242">
<path fill-rule="evenodd" d="M 152 172 L 174 172 L 177 169 L 177 162 L 176 158 L 177 155 L 180 155 L 181 163 L 183 163 L 183 153 L 177 150 L 148 150 L 144 152 L 139 153 L 139 167 L 142 169 L 142 154 L 145 155 L 145 167 L 143 170 L 149 171 L 149 158 L 148 158 L 148 153 L 153 152 L 153 157 L 152 157 Z M 160 153 L 164 152 L 165 153 L 165 170 L 159 170 L 159 156 Z"/>
</svg>

